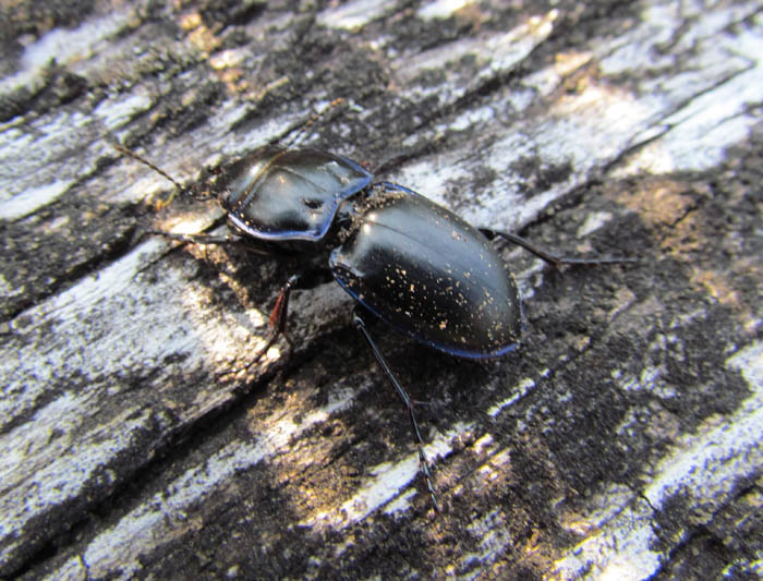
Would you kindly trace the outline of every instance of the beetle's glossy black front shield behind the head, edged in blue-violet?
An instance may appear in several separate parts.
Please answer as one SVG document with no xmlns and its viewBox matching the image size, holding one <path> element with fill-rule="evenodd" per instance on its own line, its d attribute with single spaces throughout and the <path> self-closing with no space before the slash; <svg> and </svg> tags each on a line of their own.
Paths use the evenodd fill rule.
<svg viewBox="0 0 763 581">
<path fill-rule="evenodd" d="M 230 220 L 256 239 L 317 241 L 341 202 L 371 179 L 346 157 L 270 146 L 229 167 L 217 183 L 217 194 Z"/>
</svg>

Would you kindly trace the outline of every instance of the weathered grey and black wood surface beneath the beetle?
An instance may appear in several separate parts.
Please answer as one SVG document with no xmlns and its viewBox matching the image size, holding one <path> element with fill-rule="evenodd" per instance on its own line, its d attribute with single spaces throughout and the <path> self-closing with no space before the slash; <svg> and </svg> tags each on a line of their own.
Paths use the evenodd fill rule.
<svg viewBox="0 0 763 581">
<path fill-rule="evenodd" d="M 0 574 L 754 578 L 763 559 L 763 3 L 2 5 Z M 39 4 L 39 3 L 37 3 Z M 57 4 L 53 4 L 56 7 Z M 520 350 L 373 332 L 332 283 L 246 377 L 294 265 L 178 247 L 186 183 L 293 135 L 505 246 Z"/>
</svg>

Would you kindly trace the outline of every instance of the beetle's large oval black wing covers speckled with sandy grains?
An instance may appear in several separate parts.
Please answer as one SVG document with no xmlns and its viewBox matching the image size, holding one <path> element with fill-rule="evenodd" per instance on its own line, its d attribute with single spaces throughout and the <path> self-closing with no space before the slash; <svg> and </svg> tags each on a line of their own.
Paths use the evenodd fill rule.
<svg viewBox="0 0 763 581">
<path fill-rule="evenodd" d="M 371 186 L 329 267 L 358 302 L 419 341 L 472 359 L 517 347 L 513 277 L 473 226 L 391 183 Z"/>
</svg>

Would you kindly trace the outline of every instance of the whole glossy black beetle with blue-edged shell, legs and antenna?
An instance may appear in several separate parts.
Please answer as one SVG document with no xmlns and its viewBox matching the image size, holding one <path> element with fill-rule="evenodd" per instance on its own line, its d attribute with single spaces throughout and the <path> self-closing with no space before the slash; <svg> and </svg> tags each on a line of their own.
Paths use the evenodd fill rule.
<svg viewBox="0 0 763 581">
<path fill-rule="evenodd" d="M 141 156 L 117 148 L 183 190 Z M 372 180 L 372 173 L 342 156 L 266 146 L 220 171 L 214 184 L 239 237 L 155 233 L 186 242 L 256 241 L 265 250 L 330 251 L 328 269 L 364 307 L 354 310 L 353 322 L 409 412 L 421 471 L 439 510 L 413 403 L 368 334 L 364 314 L 446 353 L 495 358 L 517 348 L 522 311 L 513 276 L 493 239 L 517 243 L 556 266 L 629 261 L 555 256 L 508 232 L 474 228 L 407 187 Z M 281 289 L 268 340 L 250 365 L 286 332 L 289 293 L 301 285 L 307 287 L 292 276 Z"/>
</svg>

